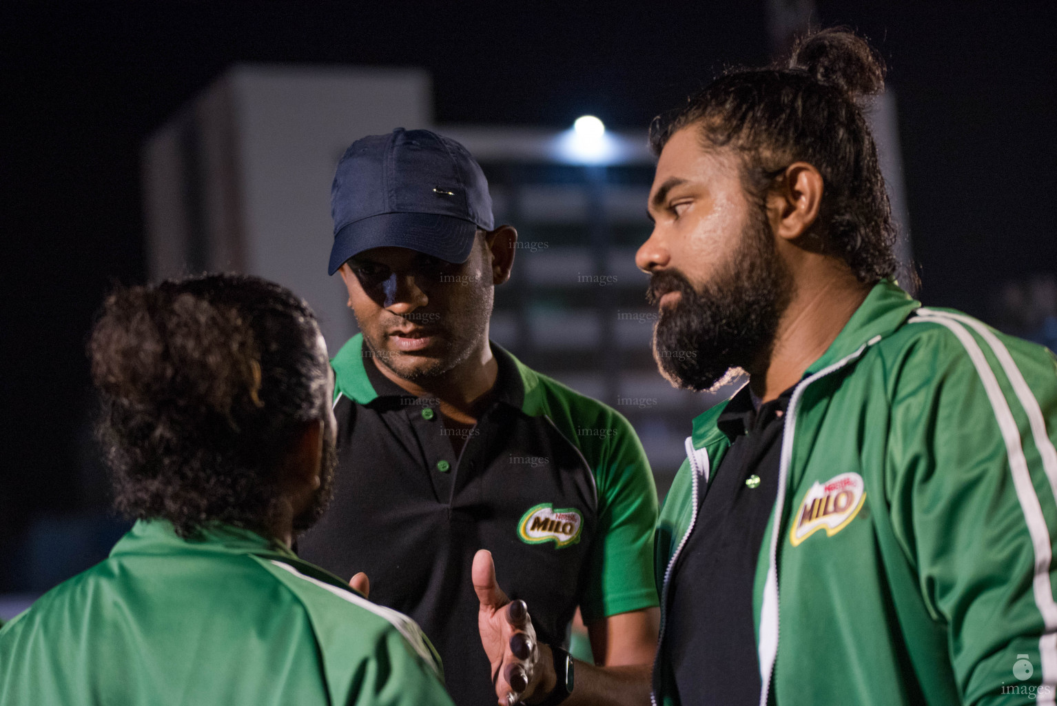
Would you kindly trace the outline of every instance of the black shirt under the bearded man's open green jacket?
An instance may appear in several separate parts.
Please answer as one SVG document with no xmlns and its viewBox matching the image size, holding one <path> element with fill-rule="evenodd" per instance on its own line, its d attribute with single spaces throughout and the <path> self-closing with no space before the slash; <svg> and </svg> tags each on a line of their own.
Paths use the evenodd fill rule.
<svg viewBox="0 0 1057 706">
<path fill-rule="evenodd" d="M 793 389 L 756 410 L 746 385 L 720 414 L 733 444 L 707 488 L 675 563 L 664 649 L 683 704 L 759 704 L 753 583 L 778 493 L 785 408 Z M 747 483 L 746 483 L 747 482 Z"/>
</svg>

